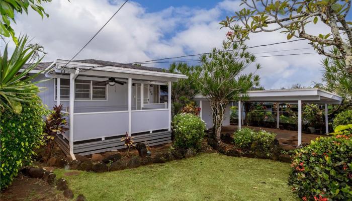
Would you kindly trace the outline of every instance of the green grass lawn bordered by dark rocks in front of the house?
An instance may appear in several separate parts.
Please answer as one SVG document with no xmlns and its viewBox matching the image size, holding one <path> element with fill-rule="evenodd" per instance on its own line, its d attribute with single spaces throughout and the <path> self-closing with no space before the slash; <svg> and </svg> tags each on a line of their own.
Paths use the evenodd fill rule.
<svg viewBox="0 0 352 201">
<path fill-rule="evenodd" d="M 254 158 L 196 157 L 114 172 L 63 176 L 88 200 L 295 200 L 289 164 Z"/>
</svg>

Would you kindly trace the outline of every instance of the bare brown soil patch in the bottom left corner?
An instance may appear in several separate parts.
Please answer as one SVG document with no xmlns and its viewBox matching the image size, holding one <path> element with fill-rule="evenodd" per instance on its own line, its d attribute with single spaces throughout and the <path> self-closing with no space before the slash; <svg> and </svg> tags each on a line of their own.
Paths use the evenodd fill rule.
<svg viewBox="0 0 352 201">
<path fill-rule="evenodd" d="M 56 191 L 40 178 L 18 176 L 12 185 L 1 191 L 2 201 L 63 201 L 66 199 L 60 191 Z"/>
</svg>

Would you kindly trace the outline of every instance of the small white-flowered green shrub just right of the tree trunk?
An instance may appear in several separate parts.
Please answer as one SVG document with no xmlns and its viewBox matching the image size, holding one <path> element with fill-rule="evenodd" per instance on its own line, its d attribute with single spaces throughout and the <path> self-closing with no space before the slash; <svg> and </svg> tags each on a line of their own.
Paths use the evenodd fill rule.
<svg viewBox="0 0 352 201">
<path fill-rule="evenodd" d="M 239 129 L 233 134 L 233 140 L 237 147 L 248 149 L 250 148 L 250 145 L 252 145 L 256 134 L 257 133 L 254 130 L 249 128 Z"/>
</svg>

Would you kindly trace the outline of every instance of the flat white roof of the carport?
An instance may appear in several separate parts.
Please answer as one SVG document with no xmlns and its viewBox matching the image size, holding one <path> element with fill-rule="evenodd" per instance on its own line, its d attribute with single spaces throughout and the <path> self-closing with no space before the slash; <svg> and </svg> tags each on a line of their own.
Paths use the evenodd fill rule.
<svg viewBox="0 0 352 201">
<path fill-rule="evenodd" d="M 196 99 L 206 99 L 202 95 L 196 95 Z M 246 102 L 266 103 L 302 103 L 311 104 L 340 104 L 342 97 L 320 88 L 296 88 L 278 90 L 254 90 L 248 91 Z"/>
</svg>

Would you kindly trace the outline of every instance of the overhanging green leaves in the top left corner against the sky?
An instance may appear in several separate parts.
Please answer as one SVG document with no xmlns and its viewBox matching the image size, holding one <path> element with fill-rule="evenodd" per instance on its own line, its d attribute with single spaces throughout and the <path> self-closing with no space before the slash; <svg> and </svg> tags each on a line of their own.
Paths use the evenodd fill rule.
<svg viewBox="0 0 352 201">
<path fill-rule="evenodd" d="M 31 7 L 35 12 L 37 12 L 42 18 L 44 15 L 49 17 L 45 13 L 42 3 L 51 2 L 51 0 L 4 0 L 1 1 L 1 21 L 0 21 L 0 35 L 5 37 L 12 37 L 13 41 L 18 44 L 19 41 L 15 36 L 15 31 L 11 27 L 11 21 L 16 23 L 15 16 L 17 13 L 23 14 L 25 12 L 28 14 L 28 8 Z"/>
</svg>

